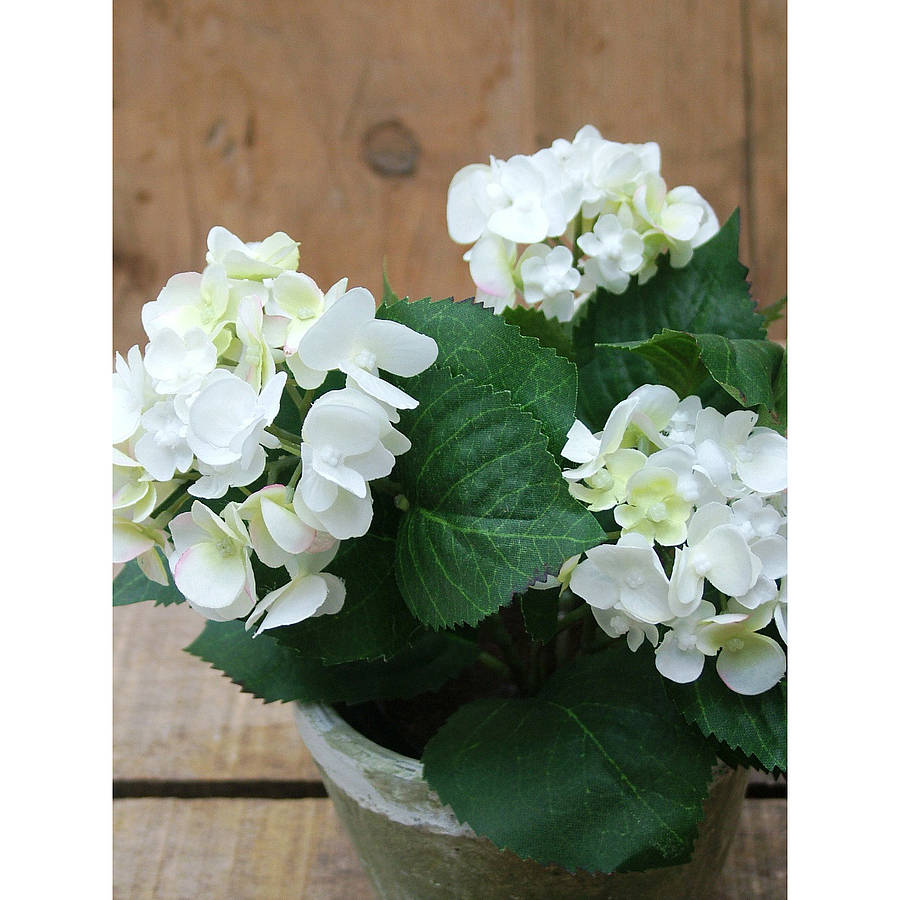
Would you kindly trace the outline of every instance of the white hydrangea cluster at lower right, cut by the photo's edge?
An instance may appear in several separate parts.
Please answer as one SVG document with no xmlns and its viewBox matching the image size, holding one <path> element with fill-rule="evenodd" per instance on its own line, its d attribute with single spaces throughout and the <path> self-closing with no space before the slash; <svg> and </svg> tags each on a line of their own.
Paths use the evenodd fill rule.
<svg viewBox="0 0 900 900">
<path fill-rule="evenodd" d="M 756 421 L 644 385 L 597 434 L 576 420 L 562 451 L 577 464 L 563 472 L 570 493 L 611 510 L 621 532 L 569 560 L 560 581 L 607 635 L 632 650 L 649 641 L 666 678 L 695 681 L 714 656 L 748 695 L 786 669 L 763 629 L 774 620 L 787 643 L 787 441 Z"/>
</svg>

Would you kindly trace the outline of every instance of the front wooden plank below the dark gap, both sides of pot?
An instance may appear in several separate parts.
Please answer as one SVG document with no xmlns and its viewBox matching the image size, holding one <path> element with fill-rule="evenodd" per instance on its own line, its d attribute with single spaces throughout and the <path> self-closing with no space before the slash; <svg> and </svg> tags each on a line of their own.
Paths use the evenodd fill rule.
<svg viewBox="0 0 900 900">
<path fill-rule="evenodd" d="M 786 896 L 786 806 L 748 800 L 720 900 Z M 369 900 L 329 800 L 117 800 L 113 895 L 128 900 Z"/>
</svg>

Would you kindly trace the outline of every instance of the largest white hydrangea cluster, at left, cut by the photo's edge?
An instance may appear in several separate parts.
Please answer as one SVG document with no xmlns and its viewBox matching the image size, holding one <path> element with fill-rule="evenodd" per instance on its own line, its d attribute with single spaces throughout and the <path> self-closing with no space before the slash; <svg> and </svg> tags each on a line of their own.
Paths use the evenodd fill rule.
<svg viewBox="0 0 900 900">
<path fill-rule="evenodd" d="M 244 243 L 215 227 L 207 244 L 202 273 L 173 276 L 144 305 L 143 356 L 116 355 L 113 560 L 136 559 L 167 584 L 165 555 L 194 609 L 248 616 L 258 634 L 340 610 L 344 586 L 323 569 L 339 541 L 368 531 L 370 482 L 410 448 L 394 425 L 417 401 L 381 371 L 416 375 L 438 351 L 377 320 L 372 294 L 346 278 L 323 292 L 283 232 Z M 331 371 L 345 386 L 317 397 Z M 285 398 L 299 434 L 274 424 Z M 232 488 L 246 499 L 220 513 L 201 502 Z M 176 515 L 190 497 L 200 499 Z M 261 599 L 254 557 L 289 578 Z"/>
</svg>

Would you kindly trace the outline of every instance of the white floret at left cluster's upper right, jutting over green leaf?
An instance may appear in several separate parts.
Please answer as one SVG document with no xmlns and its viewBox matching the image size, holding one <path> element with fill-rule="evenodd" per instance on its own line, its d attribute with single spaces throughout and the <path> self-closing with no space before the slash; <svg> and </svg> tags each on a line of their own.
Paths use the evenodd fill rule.
<svg viewBox="0 0 900 900">
<path fill-rule="evenodd" d="M 365 288 L 352 288 L 306 332 L 296 355 L 319 373 L 312 379 L 315 383 L 301 382 L 305 388 L 318 387 L 327 372 L 340 369 L 377 400 L 396 409 L 414 409 L 418 401 L 379 378 L 379 369 L 404 377 L 418 375 L 437 354 L 437 344 L 427 335 L 376 319 L 372 294 Z"/>
</svg>

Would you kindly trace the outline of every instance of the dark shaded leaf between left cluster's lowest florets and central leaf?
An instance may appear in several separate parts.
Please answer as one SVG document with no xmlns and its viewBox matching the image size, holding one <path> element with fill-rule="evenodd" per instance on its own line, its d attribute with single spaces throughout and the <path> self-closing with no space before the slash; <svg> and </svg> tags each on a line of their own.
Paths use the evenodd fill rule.
<svg viewBox="0 0 900 900">
<path fill-rule="evenodd" d="M 339 613 L 274 628 L 269 633 L 303 656 L 318 657 L 326 665 L 390 657 L 407 646 L 422 626 L 404 604 L 394 578 L 398 519 L 391 500 L 377 496 L 369 532 L 341 544 L 328 566 L 347 589 Z"/>
</svg>

